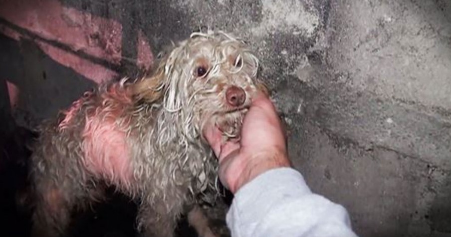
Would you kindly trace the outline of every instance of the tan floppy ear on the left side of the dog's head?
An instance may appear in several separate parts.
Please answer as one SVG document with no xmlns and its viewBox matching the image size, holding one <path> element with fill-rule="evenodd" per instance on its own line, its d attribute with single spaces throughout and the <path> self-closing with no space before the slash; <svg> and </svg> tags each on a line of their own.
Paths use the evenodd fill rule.
<svg viewBox="0 0 451 237">
<path fill-rule="evenodd" d="M 133 96 L 137 100 L 148 103 L 155 102 L 163 97 L 165 90 L 165 63 L 158 66 L 149 76 L 145 76 L 133 86 Z"/>
</svg>

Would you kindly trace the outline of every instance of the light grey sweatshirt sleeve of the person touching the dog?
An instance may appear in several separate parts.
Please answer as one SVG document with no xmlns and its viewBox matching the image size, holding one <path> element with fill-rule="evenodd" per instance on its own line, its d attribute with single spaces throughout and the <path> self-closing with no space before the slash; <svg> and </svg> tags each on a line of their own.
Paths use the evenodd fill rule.
<svg viewBox="0 0 451 237">
<path fill-rule="evenodd" d="M 241 187 L 226 222 L 232 237 L 356 237 L 347 211 L 313 194 L 292 168 L 266 171 Z"/>
</svg>

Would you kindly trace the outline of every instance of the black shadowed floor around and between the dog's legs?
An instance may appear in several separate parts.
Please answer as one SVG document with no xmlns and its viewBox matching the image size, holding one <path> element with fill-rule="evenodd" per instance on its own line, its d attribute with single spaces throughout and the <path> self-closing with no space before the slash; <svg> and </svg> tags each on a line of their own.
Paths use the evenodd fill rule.
<svg viewBox="0 0 451 237">
<path fill-rule="evenodd" d="M 0 236 L 27 237 L 30 230 L 29 200 L 25 197 L 27 160 L 26 149 L 35 136 L 23 128 L 15 128 L 9 136 L 1 137 L 0 147 Z M 127 197 L 109 192 L 105 203 L 92 210 L 74 213 L 67 237 L 133 237 L 135 231 L 136 205 Z M 220 211 L 221 212 L 221 211 Z M 224 214 L 224 210 L 222 210 Z M 217 212 L 218 214 L 218 212 Z M 221 214 L 221 215 L 223 215 Z M 211 220 L 224 236 L 224 217 Z M 196 237 L 195 231 L 182 218 L 176 230 L 177 237 Z"/>
</svg>

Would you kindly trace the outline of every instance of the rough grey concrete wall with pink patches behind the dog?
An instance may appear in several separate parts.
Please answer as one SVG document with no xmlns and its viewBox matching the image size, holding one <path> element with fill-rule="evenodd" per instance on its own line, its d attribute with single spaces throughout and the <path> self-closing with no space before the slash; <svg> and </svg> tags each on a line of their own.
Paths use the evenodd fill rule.
<svg viewBox="0 0 451 237">
<path fill-rule="evenodd" d="M 33 126 L 171 40 L 232 31 L 261 59 L 295 167 L 358 234 L 451 236 L 450 13 L 447 0 L 3 0 L 0 79 Z"/>
</svg>

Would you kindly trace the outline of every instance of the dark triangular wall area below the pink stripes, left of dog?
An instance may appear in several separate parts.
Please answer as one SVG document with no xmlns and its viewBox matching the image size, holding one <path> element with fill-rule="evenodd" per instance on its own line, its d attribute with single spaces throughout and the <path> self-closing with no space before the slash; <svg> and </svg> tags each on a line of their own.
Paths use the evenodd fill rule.
<svg viewBox="0 0 451 237">
<path fill-rule="evenodd" d="M 0 52 L 0 78 L 19 90 L 14 118 L 21 126 L 35 127 L 96 85 L 54 61 L 30 40 L 0 34 Z"/>
</svg>

